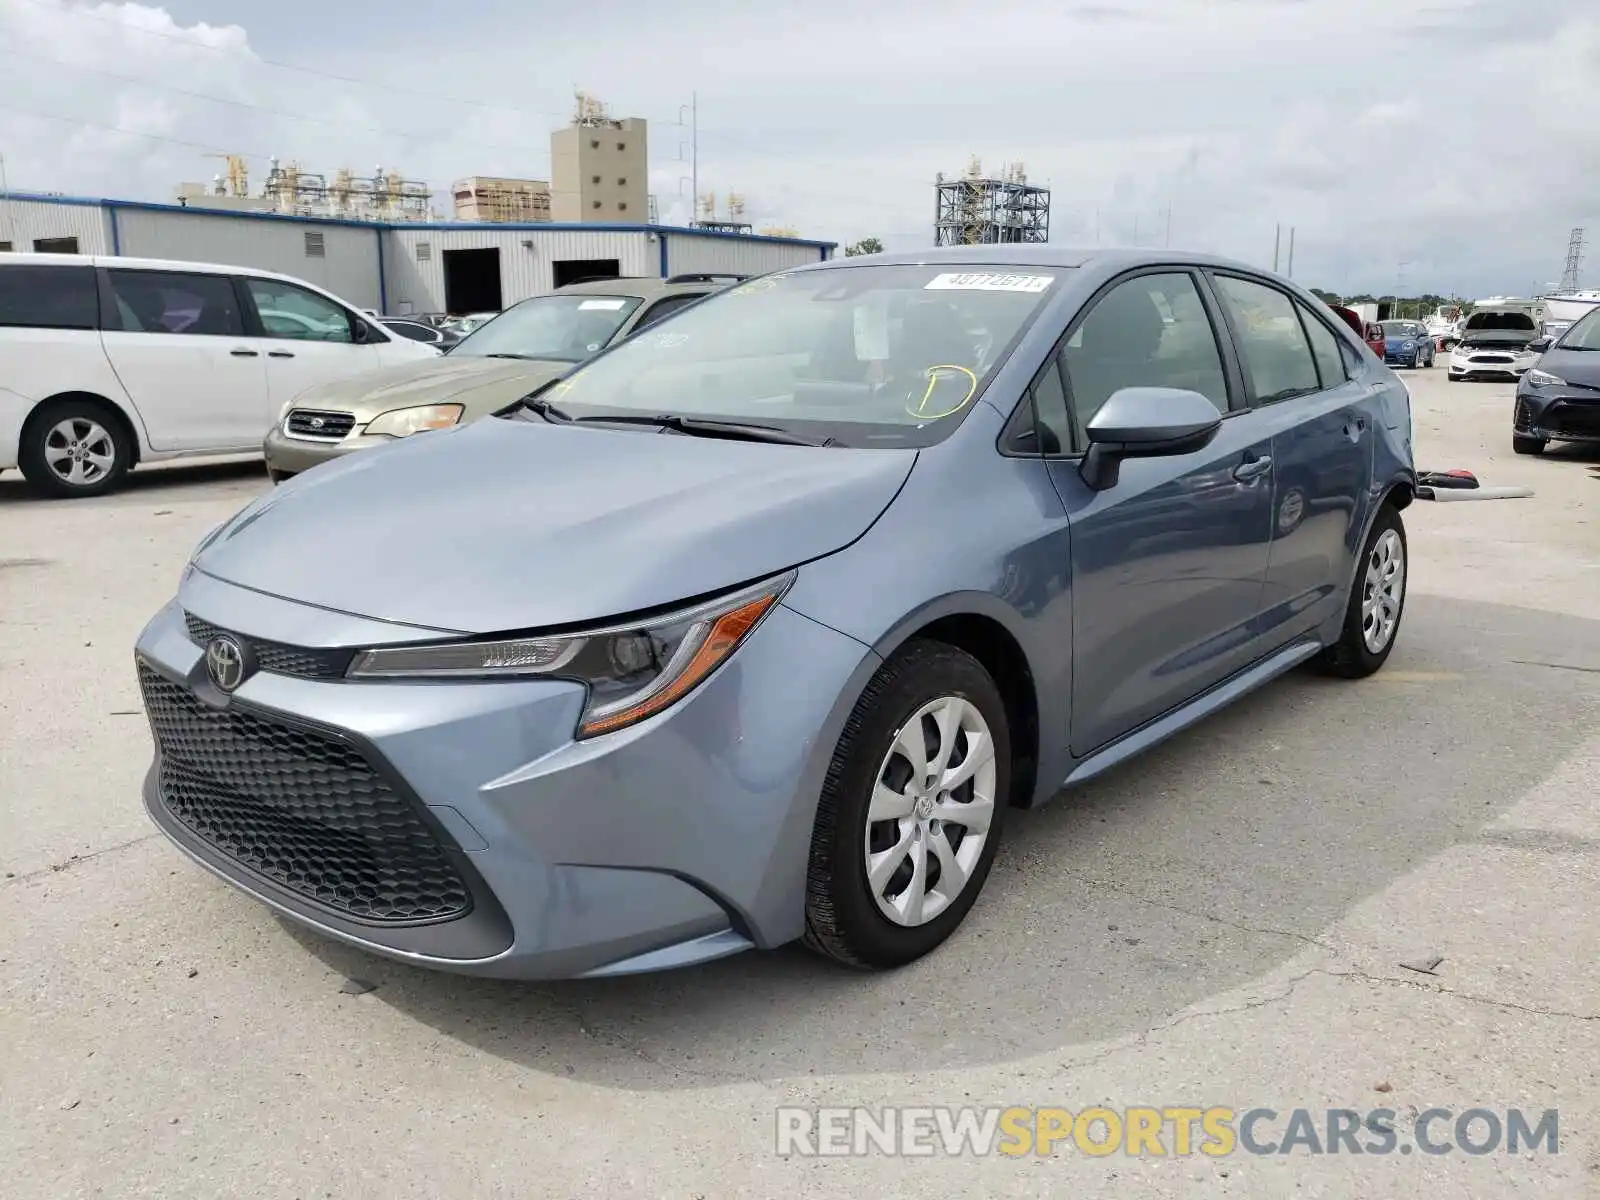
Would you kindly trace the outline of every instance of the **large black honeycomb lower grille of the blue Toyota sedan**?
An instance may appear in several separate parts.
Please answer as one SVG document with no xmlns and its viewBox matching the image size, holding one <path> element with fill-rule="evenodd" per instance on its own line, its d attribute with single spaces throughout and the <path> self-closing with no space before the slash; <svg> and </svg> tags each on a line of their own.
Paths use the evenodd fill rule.
<svg viewBox="0 0 1600 1200">
<path fill-rule="evenodd" d="M 139 688 L 160 749 L 162 803 L 195 837 L 357 920 L 416 925 L 472 909 L 418 808 L 354 747 L 213 709 L 142 662 Z"/>
</svg>

